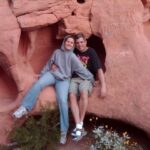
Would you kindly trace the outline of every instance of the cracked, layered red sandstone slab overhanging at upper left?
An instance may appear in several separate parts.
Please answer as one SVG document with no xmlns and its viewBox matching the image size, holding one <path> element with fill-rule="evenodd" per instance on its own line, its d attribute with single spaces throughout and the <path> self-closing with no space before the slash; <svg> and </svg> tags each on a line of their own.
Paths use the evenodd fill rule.
<svg viewBox="0 0 150 150">
<path fill-rule="evenodd" d="M 23 30 L 36 29 L 54 24 L 70 16 L 75 9 L 73 0 L 16 0 L 13 2 L 13 11 Z"/>
</svg>

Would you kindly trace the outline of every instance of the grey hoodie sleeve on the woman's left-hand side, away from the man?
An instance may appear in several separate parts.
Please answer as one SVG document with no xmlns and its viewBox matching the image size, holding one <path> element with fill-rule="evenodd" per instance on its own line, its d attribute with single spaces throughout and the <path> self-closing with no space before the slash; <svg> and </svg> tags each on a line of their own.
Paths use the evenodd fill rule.
<svg viewBox="0 0 150 150">
<path fill-rule="evenodd" d="M 55 60 L 55 52 L 52 54 L 51 58 L 48 60 L 48 62 L 46 63 L 46 65 L 44 66 L 44 68 L 42 69 L 41 73 L 40 73 L 40 77 L 50 71 L 51 65 L 54 63 Z"/>
</svg>

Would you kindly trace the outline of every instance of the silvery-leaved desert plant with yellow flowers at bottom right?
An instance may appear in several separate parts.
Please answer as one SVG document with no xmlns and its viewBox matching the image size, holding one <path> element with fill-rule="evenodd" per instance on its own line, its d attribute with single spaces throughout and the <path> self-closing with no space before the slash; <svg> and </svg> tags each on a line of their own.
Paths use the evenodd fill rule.
<svg viewBox="0 0 150 150">
<path fill-rule="evenodd" d="M 99 126 L 93 130 L 95 143 L 90 150 L 126 150 L 130 137 L 125 132 L 119 135 L 117 132 Z"/>
</svg>

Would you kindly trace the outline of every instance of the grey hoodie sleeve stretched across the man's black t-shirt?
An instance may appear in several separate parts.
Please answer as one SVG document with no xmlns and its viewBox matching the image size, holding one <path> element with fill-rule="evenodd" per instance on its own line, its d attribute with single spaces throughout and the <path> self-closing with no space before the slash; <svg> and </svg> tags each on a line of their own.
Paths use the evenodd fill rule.
<svg viewBox="0 0 150 150">
<path fill-rule="evenodd" d="M 82 79 L 94 81 L 92 73 L 83 66 L 75 54 L 72 55 L 71 71 L 72 73 L 75 72 Z"/>
</svg>

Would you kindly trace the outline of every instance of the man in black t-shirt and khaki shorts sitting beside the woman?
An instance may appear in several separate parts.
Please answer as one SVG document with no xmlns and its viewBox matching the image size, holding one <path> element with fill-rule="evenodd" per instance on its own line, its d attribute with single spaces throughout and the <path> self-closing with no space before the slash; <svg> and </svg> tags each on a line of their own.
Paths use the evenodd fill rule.
<svg viewBox="0 0 150 150">
<path fill-rule="evenodd" d="M 94 75 L 98 77 L 100 83 L 101 97 L 106 96 L 106 84 L 102 65 L 94 49 L 87 47 L 87 40 L 85 36 L 80 33 L 75 38 L 76 51 L 75 54 L 83 63 L 83 65 Z M 86 132 L 83 128 L 83 121 L 88 106 L 88 96 L 92 92 L 93 84 L 91 81 L 81 79 L 77 74 L 73 74 L 70 89 L 69 98 L 71 111 L 76 123 L 76 127 L 71 133 L 74 141 L 79 141 Z M 78 99 L 79 98 L 79 102 Z"/>
</svg>

